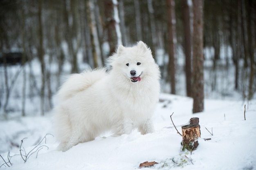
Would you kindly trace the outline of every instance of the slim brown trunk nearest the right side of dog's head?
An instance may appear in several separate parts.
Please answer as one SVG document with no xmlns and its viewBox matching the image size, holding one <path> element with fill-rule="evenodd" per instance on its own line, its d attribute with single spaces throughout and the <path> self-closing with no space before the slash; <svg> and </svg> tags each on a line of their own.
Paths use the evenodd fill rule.
<svg viewBox="0 0 256 170">
<path fill-rule="evenodd" d="M 176 80 L 175 80 L 175 56 L 176 56 L 176 20 L 175 20 L 175 1 L 166 0 L 167 13 L 168 13 L 168 54 L 169 54 L 169 64 L 168 72 L 171 76 L 171 94 L 176 94 Z"/>
</svg>

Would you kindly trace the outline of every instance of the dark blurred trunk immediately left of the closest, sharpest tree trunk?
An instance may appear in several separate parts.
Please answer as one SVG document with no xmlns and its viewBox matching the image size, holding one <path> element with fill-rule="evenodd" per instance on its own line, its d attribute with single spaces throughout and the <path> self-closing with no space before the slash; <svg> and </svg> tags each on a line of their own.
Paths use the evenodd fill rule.
<svg viewBox="0 0 256 170">
<path fill-rule="evenodd" d="M 190 13 L 187 0 L 182 0 L 182 17 L 184 30 L 185 71 L 186 71 L 186 95 L 192 97 L 192 67 L 191 67 L 191 29 Z"/>
</svg>

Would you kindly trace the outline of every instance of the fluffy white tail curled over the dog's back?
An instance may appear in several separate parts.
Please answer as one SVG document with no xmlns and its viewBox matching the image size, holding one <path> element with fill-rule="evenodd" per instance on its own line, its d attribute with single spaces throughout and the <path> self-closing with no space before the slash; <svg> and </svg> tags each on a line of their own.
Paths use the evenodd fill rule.
<svg viewBox="0 0 256 170">
<path fill-rule="evenodd" d="M 81 74 L 72 74 L 58 91 L 58 99 L 64 101 L 76 93 L 88 89 L 104 76 L 106 76 L 105 69 L 86 70 Z"/>
</svg>

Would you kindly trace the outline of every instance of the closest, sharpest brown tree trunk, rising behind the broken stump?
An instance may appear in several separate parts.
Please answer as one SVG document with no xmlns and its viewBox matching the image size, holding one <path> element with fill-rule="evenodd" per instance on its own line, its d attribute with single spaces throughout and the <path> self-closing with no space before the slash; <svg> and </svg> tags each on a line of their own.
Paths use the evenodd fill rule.
<svg viewBox="0 0 256 170">
<path fill-rule="evenodd" d="M 193 113 L 204 110 L 203 0 L 193 0 Z"/>
</svg>

